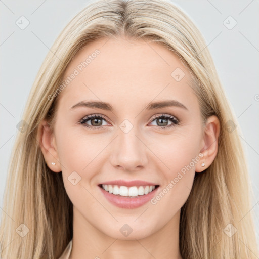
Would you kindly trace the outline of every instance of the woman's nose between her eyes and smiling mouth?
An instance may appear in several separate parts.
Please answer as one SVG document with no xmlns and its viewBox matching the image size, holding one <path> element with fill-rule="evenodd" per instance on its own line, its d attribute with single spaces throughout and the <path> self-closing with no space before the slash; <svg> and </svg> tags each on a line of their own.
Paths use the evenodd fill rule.
<svg viewBox="0 0 259 259">
<path fill-rule="evenodd" d="M 147 147 L 135 127 L 128 133 L 118 129 L 118 136 L 113 141 L 111 164 L 125 171 L 136 171 L 147 164 Z"/>
</svg>

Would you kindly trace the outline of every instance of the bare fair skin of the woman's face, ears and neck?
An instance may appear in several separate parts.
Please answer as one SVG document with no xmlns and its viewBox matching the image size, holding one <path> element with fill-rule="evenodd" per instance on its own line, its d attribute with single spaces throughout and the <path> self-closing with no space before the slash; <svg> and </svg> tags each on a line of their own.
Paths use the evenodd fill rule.
<svg viewBox="0 0 259 259">
<path fill-rule="evenodd" d="M 180 209 L 192 189 L 195 171 L 206 169 L 217 155 L 219 120 L 211 116 L 206 127 L 202 126 L 198 99 L 189 85 L 191 75 L 174 53 L 155 42 L 107 40 L 91 42 L 77 53 L 65 77 L 100 50 L 60 93 L 54 132 L 45 120 L 39 127 L 45 160 L 54 172 L 62 171 L 73 203 L 69 259 L 181 259 Z M 185 73 L 180 81 L 171 76 L 176 68 Z M 176 100 L 186 108 L 145 109 L 150 102 L 166 100 Z M 113 111 L 71 109 L 81 101 L 103 101 Z M 85 124 L 91 128 L 78 123 L 92 114 L 105 119 L 89 119 Z M 175 116 L 179 124 L 154 117 L 163 114 Z M 133 125 L 128 133 L 120 128 L 125 119 Z M 155 204 L 119 208 L 98 187 L 111 180 L 143 180 L 157 183 L 162 191 L 195 158 L 198 161 Z M 201 166 L 203 162 L 205 166 Z M 76 185 L 68 180 L 73 171 L 81 177 Z M 120 231 L 124 224 L 133 230 L 128 236 Z"/>
</svg>

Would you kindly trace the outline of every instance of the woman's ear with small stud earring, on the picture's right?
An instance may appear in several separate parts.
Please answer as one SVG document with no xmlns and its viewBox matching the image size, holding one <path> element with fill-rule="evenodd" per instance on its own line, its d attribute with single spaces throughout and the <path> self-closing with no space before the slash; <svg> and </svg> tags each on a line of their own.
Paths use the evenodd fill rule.
<svg viewBox="0 0 259 259">
<path fill-rule="evenodd" d="M 196 164 L 195 171 L 201 172 L 208 168 L 215 156 L 218 153 L 218 144 L 219 144 L 219 135 L 220 135 L 220 121 L 217 116 L 212 115 L 208 117 L 202 139 L 202 149 L 200 153 L 203 154 L 199 163 Z M 205 163 L 204 166 L 201 166 Z"/>
</svg>

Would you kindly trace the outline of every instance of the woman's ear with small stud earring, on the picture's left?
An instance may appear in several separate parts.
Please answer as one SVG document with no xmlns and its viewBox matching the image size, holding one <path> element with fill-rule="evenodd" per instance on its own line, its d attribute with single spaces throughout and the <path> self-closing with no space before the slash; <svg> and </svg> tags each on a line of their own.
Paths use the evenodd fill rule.
<svg viewBox="0 0 259 259">
<path fill-rule="evenodd" d="M 54 172 L 60 172 L 61 165 L 59 163 L 56 139 L 46 120 L 42 120 L 39 124 L 37 139 L 48 167 Z"/>
</svg>

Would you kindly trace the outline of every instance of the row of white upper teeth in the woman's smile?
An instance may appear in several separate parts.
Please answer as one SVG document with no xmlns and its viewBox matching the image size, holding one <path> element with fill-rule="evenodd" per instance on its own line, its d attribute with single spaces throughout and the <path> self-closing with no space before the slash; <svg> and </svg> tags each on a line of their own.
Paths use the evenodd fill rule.
<svg viewBox="0 0 259 259">
<path fill-rule="evenodd" d="M 121 196 L 142 196 L 147 195 L 148 193 L 152 192 L 155 189 L 154 185 L 146 185 L 146 186 L 118 186 L 118 185 L 102 185 L 102 188 L 109 193 L 113 193 L 114 195 L 121 195 Z"/>
</svg>

